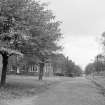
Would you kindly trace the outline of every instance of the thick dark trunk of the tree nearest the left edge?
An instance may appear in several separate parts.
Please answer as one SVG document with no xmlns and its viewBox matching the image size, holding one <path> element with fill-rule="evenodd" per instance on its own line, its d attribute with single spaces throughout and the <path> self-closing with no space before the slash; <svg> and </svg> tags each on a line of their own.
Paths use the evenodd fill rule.
<svg viewBox="0 0 105 105">
<path fill-rule="evenodd" d="M 2 74 L 1 74 L 1 86 L 4 86 L 6 83 L 6 72 L 7 72 L 7 65 L 8 65 L 8 56 L 2 55 Z"/>
</svg>

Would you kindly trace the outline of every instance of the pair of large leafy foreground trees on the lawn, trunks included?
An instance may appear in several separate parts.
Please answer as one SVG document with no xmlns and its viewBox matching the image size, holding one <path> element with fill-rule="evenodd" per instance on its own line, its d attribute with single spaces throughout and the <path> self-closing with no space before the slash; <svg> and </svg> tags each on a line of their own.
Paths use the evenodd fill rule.
<svg viewBox="0 0 105 105">
<path fill-rule="evenodd" d="M 49 57 L 61 49 L 60 23 L 46 4 L 34 0 L 0 0 L 1 86 L 6 82 L 8 58 L 27 56 L 40 64 L 39 79 Z M 31 59 L 32 60 L 32 59 Z"/>
</svg>

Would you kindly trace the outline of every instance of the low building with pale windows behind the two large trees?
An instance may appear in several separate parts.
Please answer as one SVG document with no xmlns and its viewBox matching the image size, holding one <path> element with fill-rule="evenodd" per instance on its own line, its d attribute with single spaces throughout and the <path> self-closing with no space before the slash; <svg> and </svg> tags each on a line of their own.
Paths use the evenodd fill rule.
<svg viewBox="0 0 105 105">
<path fill-rule="evenodd" d="M 30 63 L 27 64 L 23 61 L 21 64 L 18 63 L 16 56 L 11 56 L 8 61 L 8 73 L 9 74 L 21 74 L 21 75 L 36 75 L 38 76 L 40 67 L 39 64 Z M 53 76 L 53 65 L 51 61 L 47 61 L 44 65 L 43 75 Z"/>
</svg>

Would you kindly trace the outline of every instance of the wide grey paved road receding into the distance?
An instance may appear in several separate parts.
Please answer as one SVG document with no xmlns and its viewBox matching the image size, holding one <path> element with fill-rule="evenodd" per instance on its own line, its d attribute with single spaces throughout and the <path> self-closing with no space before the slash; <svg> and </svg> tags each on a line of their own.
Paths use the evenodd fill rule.
<svg viewBox="0 0 105 105">
<path fill-rule="evenodd" d="M 74 78 L 40 94 L 33 100 L 33 105 L 105 105 L 105 97 L 91 81 Z"/>
</svg>

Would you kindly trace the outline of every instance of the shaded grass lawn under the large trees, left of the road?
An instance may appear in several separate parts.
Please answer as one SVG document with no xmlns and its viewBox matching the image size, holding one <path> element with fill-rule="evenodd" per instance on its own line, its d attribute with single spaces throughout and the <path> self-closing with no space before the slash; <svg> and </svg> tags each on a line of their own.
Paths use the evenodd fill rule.
<svg viewBox="0 0 105 105">
<path fill-rule="evenodd" d="M 54 77 L 39 81 L 37 77 L 33 76 L 8 75 L 6 86 L 0 89 L 0 102 L 35 96 L 46 91 L 58 81 L 59 78 Z"/>
</svg>

